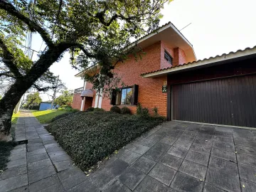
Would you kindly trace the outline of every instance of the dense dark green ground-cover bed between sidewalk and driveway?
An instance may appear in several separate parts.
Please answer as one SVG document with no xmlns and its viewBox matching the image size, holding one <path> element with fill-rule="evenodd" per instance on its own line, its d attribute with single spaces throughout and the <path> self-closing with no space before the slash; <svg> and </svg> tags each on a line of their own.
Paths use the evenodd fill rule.
<svg viewBox="0 0 256 192">
<path fill-rule="evenodd" d="M 58 119 L 47 129 L 75 164 L 86 171 L 163 121 L 159 117 L 81 112 Z"/>
</svg>

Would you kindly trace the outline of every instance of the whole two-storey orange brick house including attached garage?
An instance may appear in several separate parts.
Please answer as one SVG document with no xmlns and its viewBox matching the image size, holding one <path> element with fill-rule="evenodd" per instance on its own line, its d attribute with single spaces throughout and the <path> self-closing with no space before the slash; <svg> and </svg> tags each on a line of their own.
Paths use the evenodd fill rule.
<svg viewBox="0 0 256 192">
<path fill-rule="evenodd" d="M 256 127 L 256 47 L 196 60 L 193 46 L 172 23 L 139 39 L 138 46 L 146 52 L 142 60 L 130 56 L 114 69 L 128 87 L 120 86 L 110 100 L 85 82 L 73 107 L 118 105 L 134 113 L 140 102 L 151 113 L 158 107 L 169 120 Z M 85 73 L 89 69 L 75 76 Z"/>
</svg>

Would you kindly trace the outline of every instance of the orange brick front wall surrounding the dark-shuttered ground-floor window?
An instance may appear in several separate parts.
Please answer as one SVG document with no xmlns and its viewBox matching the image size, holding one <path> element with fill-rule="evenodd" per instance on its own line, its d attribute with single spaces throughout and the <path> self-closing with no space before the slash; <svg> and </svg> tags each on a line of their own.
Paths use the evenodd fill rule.
<svg viewBox="0 0 256 192">
<path fill-rule="evenodd" d="M 145 48 L 146 55 L 142 60 L 134 60 L 132 56 L 124 63 L 119 63 L 115 68 L 115 73 L 118 73 L 122 78 L 125 85 L 131 86 L 134 84 L 139 85 L 138 102 L 142 104 L 142 107 L 148 107 L 149 112 L 153 114 L 152 108 L 154 106 L 159 107 L 159 114 L 166 116 L 166 93 L 161 92 L 166 77 L 162 78 L 142 78 L 141 74 L 145 71 L 158 70 L 161 65 L 161 42 Z M 121 86 L 120 86 L 121 87 Z M 125 105 L 134 114 L 136 112 L 136 106 Z M 104 110 L 110 110 L 110 99 L 102 98 L 102 108 Z M 119 107 L 124 107 L 123 105 Z"/>
</svg>

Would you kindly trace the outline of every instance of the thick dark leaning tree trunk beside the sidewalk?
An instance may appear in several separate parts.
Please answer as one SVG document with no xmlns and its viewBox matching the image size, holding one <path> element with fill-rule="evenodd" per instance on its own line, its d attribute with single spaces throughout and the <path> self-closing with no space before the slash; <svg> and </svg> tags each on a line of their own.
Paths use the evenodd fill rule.
<svg viewBox="0 0 256 192">
<path fill-rule="evenodd" d="M 23 78 L 19 78 L 11 85 L 4 97 L 0 100 L 0 133 L 9 134 L 11 129 L 11 116 L 22 95 L 46 73 L 50 65 L 58 60 L 60 55 L 69 48 L 69 44 L 62 44 L 49 48 L 46 53 L 41 55 L 31 70 Z"/>
</svg>

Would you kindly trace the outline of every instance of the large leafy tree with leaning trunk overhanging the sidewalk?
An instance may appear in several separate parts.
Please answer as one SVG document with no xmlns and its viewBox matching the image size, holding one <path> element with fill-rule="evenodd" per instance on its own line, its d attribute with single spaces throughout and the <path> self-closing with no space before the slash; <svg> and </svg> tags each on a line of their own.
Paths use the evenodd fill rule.
<svg viewBox="0 0 256 192">
<path fill-rule="evenodd" d="M 100 73 L 85 77 L 97 91 L 111 83 L 115 63 L 141 54 L 131 41 L 156 31 L 166 1 L 171 0 L 0 0 L 0 57 L 8 68 L 0 76 L 14 79 L 0 102 L 0 132 L 9 134 L 18 100 L 31 86 L 41 89 L 36 82 L 66 51 L 74 68 L 100 66 Z M 18 48 L 27 31 L 46 43 L 34 62 Z"/>
</svg>

